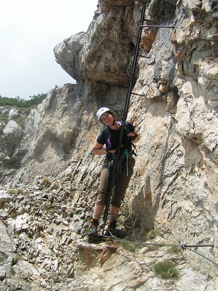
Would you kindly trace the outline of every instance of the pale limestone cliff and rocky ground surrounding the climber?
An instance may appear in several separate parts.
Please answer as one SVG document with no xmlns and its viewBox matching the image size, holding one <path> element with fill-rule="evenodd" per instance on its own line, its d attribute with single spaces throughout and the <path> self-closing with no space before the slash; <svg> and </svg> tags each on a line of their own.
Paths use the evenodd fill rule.
<svg viewBox="0 0 218 291">
<path fill-rule="evenodd" d="M 91 152 L 103 129 L 95 113 L 109 106 L 122 119 L 129 77 L 121 74 L 131 71 L 141 3 L 99 0 L 88 31 L 56 46 L 57 62 L 77 84 L 50 90 L 15 140 L 15 127 L 1 124 L 2 189 L 25 190 L 2 205 L 3 256 L 14 256 L 13 274 L 1 269 L 6 290 L 217 289 L 217 267 L 205 259 L 217 262 L 215 6 L 152 0 L 146 9 L 146 19 L 175 29 L 142 31 L 140 54 L 150 58 L 138 58 L 133 92 L 140 96 L 131 96 L 127 115 L 140 142 L 119 213 L 128 239 L 147 242 L 133 252 L 116 241 L 88 243 L 86 232 L 104 159 Z M 160 236 L 148 244 L 154 228 Z M 200 258 L 183 243 L 215 247 L 198 247 Z M 178 278 L 154 271 L 169 259 Z"/>
</svg>

